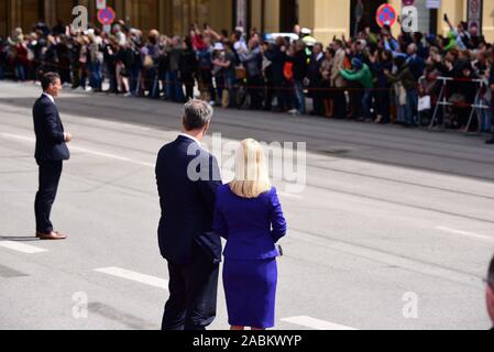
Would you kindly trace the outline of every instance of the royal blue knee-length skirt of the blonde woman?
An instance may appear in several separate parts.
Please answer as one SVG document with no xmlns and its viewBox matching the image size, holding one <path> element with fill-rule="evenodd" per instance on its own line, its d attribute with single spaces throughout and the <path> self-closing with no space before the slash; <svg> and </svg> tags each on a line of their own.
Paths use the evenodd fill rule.
<svg viewBox="0 0 494 352">
<path fill-rule="evenodd" d="M 275 326 L 278 271 L 276 258 L 226 258 L 223 286 L 230 326 L 268 329 Z"/>
</svg>

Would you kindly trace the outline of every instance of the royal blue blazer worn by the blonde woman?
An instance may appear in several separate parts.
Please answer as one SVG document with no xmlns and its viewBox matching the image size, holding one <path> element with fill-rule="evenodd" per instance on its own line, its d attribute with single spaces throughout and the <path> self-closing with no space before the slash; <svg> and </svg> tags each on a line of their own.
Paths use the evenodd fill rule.
<svg viewBox="0 0 494 352">
<path fill-rule="evenodd" d="M 217 191 L 213 230 L 227 239 L 224 257 L 239 261 L 278 255 L 276 243 L 286 234 L 276 188 L 255 199 L 237 196 L 228 185 Z"/>
</svg>

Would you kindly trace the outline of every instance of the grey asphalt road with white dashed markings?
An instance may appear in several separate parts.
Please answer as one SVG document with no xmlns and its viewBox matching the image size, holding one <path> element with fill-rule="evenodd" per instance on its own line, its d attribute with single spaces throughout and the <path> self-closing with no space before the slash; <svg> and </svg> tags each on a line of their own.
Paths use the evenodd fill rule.
<svg viewBox="0 0 494 352">
<path fill-rule="evenodd" d="M 74 134 L 53 209 L 63 242 L 34 235 L 31 84 L 0 82 L 0 329 L 158 329 L 167 298 L 154 163 L 180 106 L 65 91 Z M 494 150 L 479 136 L 217 109 L 223 142 L 306 142 L 306 187 L 277 180 L 277 329 L 487 329 Z M 210 139 L 206 141 L 210 143 Z M 213 330 L 228 328 L 220 286 Z"/>
</svg>

